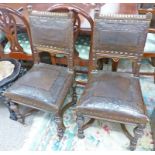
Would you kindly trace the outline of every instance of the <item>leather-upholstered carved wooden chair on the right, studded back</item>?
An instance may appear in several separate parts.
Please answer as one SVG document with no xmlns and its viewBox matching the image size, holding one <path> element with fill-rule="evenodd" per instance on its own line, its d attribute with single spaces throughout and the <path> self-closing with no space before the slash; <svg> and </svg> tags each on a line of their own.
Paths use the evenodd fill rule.
<svg viewBox="0 0 155 155">
<path fill-rule="evenodd" d="M 89 81 L 77 103 L 78 137 L 94 119 L 105 119 L 123 124 L 135 124 L 130 149 L 136 148 L 148 122 L 139 83 L 139 68 L 151 14 L 100 15 L 96 12 L 93 31 Z M 97 59 L 128 58 L 134 62 L 134 74 L 97 71 Z M 91 118 L 84 123 L 84 118 Z M 125 128 L 124 125 L 122 127 Z"/>
</svg>

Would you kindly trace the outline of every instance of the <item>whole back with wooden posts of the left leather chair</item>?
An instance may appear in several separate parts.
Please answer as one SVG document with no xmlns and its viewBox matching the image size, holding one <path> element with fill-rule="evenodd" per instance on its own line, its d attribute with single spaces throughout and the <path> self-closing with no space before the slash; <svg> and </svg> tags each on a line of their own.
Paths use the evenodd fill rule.
<svg viewBox="0 0 155 155">
<path fill-rule="evenodd" d="M 35 11 L 31 7 L 29 22 L 34 47 L 35 62 L 39 62 L 39 53 L 49 52 L 51 57 L 64 54 L 68 68 L 73 70 L 73 16 L 72 13 Z"/>
</svg>

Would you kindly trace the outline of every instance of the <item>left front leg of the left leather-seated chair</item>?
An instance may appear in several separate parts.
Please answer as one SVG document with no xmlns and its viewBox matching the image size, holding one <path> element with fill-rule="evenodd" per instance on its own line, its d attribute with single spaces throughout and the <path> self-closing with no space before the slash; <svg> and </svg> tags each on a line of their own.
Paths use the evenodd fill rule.
<svg viewBox="0 0 155 155">
<path fill-rule="evenodd" d="M 24 118 L 19 112 L 18 104 L 10 101 L 10 118 L 24 124 Z"/>
</svg>

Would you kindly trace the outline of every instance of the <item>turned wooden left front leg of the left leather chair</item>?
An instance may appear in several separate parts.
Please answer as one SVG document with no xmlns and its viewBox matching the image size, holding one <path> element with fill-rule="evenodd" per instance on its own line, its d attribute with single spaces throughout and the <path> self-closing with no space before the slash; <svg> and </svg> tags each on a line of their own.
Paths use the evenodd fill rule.
<svg viewBox="0 0 155 155">
<path fill-rule="evenodd" d="M 10 101 L 10 111 L 14 113 L 18 122 L 24 124 L 24 117 L 19 112 L 18 104 Z"/>
</svg>

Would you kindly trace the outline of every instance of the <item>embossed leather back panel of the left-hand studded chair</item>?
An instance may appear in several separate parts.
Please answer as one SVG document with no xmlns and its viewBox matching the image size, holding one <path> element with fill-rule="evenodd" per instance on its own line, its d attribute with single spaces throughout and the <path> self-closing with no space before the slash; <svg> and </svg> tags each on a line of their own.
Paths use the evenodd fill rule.
<svg viewBox="0 0 155 155">
<path fill-rule="evenodd" d="M 73 22 L 67 13 L 33 11 L 29 19 L 35 46 L 72 48 Z"/>
</svg>

